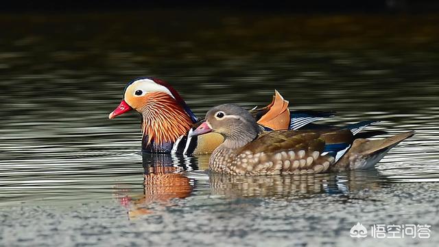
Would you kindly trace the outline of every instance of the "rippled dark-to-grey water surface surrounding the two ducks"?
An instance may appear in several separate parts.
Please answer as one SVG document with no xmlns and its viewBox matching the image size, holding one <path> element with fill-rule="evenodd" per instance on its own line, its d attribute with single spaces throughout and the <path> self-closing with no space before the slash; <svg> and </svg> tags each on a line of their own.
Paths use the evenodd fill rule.
<svg viewBox="0 0 439 247">
<path fill-rule="evenodd" d="M 0 16 L 0 245 L 438 246 L 438 21 Z M 337 111 L 331 124 L 416 134 L 367 172 L 209 174 L 208 156 L 142 155 L 137 114 L 108 120 L 140 76 L 167 80 L 198 116 L 278 89 L 291 108 Z M 353 239 L 357 222 L 429 224 L 431 238 Z"/>
</svg>

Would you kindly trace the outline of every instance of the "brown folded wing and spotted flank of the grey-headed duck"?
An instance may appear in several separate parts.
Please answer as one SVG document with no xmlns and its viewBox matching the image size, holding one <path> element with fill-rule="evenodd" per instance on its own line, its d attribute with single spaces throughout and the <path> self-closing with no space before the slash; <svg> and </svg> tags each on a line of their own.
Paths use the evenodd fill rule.
<svg viewBox="0 0 439 247">
<path fill-rule="evenodd" d="M 243 167 L 237 170 L 245 168 L 250 175 L 324 172 L 335 162 L 335 158 L 322 153 L 327 143 L 341 141 L 344 132 L 351 134 L 349 130 L 333 133 L 277 130 L 261 134 L 238 151 L 241 155 L 248 155 L 248 158 L 244 165 L 242 162 L 239 164 Z"/>
</svg>

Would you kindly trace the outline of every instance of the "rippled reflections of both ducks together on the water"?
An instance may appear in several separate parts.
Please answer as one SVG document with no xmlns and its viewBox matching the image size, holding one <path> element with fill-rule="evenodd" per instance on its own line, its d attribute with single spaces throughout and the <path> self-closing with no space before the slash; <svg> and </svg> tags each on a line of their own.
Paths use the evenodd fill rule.
<svg viewBox="0 0 439 247">
<path fill-rule="evenodd" d="M 130 219 L 154 213 L 156 205 L 173 207 L 175 200 L 191 196 L 194 189 L 197 189 L 196 193 L 210 193 L 229 199 L 303 199 L 326 193 L 339 195 L 340 202 L 346 202 L 350 199 L 368 200 L 353 198 L 353 191 L 377 190 L 383 186 L 382 176 L 377 170 L 278 176 L 230 176 L 206 172 L 202 176 L 206 179 L 209 176 L 209 185 L 204 186 L 197 181 L 200 173 L 190 171 L 207 169 L 209 155 L 189 157 L 144 153 L 142 158 L 145 168 L 143 194 L 119 198 L 128 208 Z"/>
</svg>

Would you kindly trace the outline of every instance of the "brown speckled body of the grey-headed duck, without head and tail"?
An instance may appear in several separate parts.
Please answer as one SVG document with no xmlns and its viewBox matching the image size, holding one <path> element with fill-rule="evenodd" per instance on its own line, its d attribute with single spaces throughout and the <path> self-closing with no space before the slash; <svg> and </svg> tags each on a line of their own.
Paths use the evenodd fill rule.
<svg viewBox="0 0 439 247">
<path fill-rule="evenodd" d="M 213 152 L 210 169 L 233 175 L 317 174 L 334 163 L 332 156 L 321 156 L 325 139 L 331 133 L 273 131 L 261 134 L 242 148 L 225 145 Z M 337 132 L 338 135 L 348 132 Z"/>
</svg>

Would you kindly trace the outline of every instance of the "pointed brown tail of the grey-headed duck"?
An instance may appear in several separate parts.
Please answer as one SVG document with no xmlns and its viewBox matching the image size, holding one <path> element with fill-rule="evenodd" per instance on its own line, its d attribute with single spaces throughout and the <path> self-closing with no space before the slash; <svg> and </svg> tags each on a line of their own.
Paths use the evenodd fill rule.
<svg viewBox="0 0 439 247">
<path fill-rule="evenodd" d="M 412 137 L 414 131 L 379 140 L 355 139 L 352 148 L 334 166 L 335 169 L 370 169 L 394 146 Z"/>
</svg>

